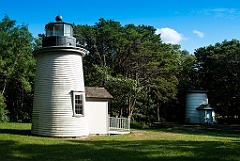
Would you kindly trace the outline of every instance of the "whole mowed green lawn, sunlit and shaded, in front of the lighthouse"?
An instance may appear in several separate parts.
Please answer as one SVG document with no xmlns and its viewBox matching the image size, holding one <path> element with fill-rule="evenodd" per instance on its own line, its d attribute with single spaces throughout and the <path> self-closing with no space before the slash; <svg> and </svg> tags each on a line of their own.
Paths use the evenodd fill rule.
<svg viewBox="0 0 240 161">
<path fill-rule="evenodd" d="M 50 138 L 31 124 L 0 123 L 0 161 L 240 160 L 240 134 L 189 129 L 132 130 L 129 135 Z"/>
</svg>

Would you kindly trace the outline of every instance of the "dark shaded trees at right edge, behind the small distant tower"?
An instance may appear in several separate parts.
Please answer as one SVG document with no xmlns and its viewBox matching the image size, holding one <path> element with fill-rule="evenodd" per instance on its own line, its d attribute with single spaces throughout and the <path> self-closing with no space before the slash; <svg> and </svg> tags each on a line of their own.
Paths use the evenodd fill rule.
<svg viewBox="0 0 240 161">
<path fill-rule="evenodd" d="M 240 111 L 240 42 L 216 43 L 195 52 L 199 86 L 209 90 L 210 103 L 223 116 L 239 115 Z"/>
</svg>

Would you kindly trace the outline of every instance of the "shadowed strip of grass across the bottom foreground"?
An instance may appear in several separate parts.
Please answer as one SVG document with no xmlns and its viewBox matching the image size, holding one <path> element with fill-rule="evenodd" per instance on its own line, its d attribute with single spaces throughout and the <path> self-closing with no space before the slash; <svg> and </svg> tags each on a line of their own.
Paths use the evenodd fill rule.
<svg viewBox="0 0 240 161">
<path fill-rule="evenodd" d="M 0 140 L 1 161 L 225 161 L 240 160 L 239 142 L 183 140 L 64 140 L 27 144 Z"/>
</svg>

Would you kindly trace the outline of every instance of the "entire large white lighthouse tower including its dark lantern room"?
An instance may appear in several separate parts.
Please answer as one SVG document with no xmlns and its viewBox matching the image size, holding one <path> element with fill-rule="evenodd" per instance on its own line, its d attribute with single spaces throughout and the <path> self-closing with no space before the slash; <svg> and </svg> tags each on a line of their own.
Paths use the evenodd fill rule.
<svg viewBox="0 0 240 161">
<path fill-rule="evenodd" d="M 85 116 L 85 88 L 82 57 L 86 50 L 76 47 L 73 25 L 56 22 L 45 26 L 37 60 L 34 88 L 32 134 L 53 137 L 89 135 Z"/>
</svg>

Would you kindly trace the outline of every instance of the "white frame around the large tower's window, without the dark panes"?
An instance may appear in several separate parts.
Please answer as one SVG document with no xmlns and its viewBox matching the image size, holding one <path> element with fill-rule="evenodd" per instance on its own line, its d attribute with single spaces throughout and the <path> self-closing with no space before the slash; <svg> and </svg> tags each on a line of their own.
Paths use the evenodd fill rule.
<svg viewBox="0 0 240 161">
<path fill-rule="evenodd" d="M 80 96 L 82 98 L 82 112 L 81 113 L 76 113 L 76 106 L 77 106 L 77 102 L 76 102 L 76 96 Z M 85 99 L 85 94 L 82 91 L 72 91 L 72 104 L 73 104 L 73 116 L 74 117 L 83 117 L 84 116 L 84 99 Z"/>
</svg>

